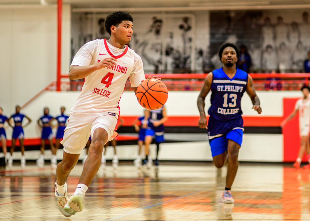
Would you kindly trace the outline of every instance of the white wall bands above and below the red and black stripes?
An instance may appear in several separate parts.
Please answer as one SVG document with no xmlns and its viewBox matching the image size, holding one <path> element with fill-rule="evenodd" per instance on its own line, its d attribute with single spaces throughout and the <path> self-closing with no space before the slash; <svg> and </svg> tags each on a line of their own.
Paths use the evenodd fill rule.
<svg viewBox="0 0 310 221">
<path fill-rule="evenodd" d="M 170 91 L 166 108 L 168 115 L 198 115 L 196 98 L 198 91 Z M 65 106 L 67 113 L 73 106 L 79 92 L 53 92 L 47 91 L 42 93 L 29 106 L 26 106 L 22 112 L 34 120 L 25 128 L 26 138 L 40 137 L 40 129 L 36 123 L 39 116 L 42 115 L 43 107 L 50 107 L 51 115 L 59 114 L 59 107 Z M 263 115 L 282 116 L 282 100 L 284 97 L 299 97 L 299 91 L 259 91 L 258 96 L 261 99 Z M 209 99 L 209 97 L 207 98 Z M 206 109 L 209 107 L 206 101 Z M 132 116 L 141 115 L 143 108 L 139 106 L 135 95 L 132 91 L 125 91 L 122 95 L 121 115 Z M 242 103 L 244 115 L 257 116 L 256 112 L 251 110 L 251 102 L 245 94 Z M 11 137 L 12 130 L 7 128 L 7 136 Z M 184 143 L 164 143 L 161 145 L 159 158 L 162 160 L 211 160 L 210 146 L 207 141 L 184 142 Z M 118 154 L 120 159 L 133 159 L 137 154 L 136 145 L 120 146 Z M 152 153 L 155 153 L 155 146 L 151 145 Z M 38 152 L 38 151 L 37 151 Z M 268 153 L 268 154 L 266 154 Z M 46 153 L 49 156 L 49 152 Z M 26 154 L 29 158 L 36 158 L 38 154 Z M 18 154 L 15 155 L 18 158 Z M 61 158 L 61 151 L 58 157 Z M 108 158 L 112 157 L 112 149 L 108 149 Z M 83 154 L 81 155 L 83 157 Z M 241 145 L 239 159 L 242 161 L 257 162 L 282 162 L 283 159 L 283 136 L 282 134 L 244 134 Z"/>
</svg>

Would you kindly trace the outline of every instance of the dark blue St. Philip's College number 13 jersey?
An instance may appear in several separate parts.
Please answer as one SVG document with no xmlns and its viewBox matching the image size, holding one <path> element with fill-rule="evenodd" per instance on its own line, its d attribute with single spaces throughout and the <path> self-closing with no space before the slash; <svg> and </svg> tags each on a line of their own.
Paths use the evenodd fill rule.
<svg viewBox="0 0 310 221">
<path fill-rule="evenodd" d="M 215 69 L 211 84 L 211 106 L 208 114 L 218 121 L 236 119 L 242 115 L 241 98 L 246 91 L 248 74 L 237 69 L 230 79 L 223 68 Z"/>
</svg>

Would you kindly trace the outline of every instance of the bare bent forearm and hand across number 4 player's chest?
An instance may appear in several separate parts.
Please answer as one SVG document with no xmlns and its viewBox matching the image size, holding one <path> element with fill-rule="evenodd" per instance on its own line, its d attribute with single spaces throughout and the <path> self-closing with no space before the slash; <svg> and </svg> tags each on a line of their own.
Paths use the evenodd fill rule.
<svg viewBox="0 0 310 221">
<path fill-rule="evenodd" d="M 88 66 L 78 66 L 73 65 L 69 71 L 70 80 L 78 80 L 83 79 L 90 75 L 92 72 L 99 70 L 101 68 L 112 69 L 116 65 L 117 59 L 115 58 L 105 58 L 99 63 L 95 63 L 93 65 Z"/>
</svg>

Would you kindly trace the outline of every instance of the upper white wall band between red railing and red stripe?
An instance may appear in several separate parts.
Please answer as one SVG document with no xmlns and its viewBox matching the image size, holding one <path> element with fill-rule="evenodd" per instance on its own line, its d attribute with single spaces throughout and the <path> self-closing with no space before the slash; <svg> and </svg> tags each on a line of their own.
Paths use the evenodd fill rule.
<svg viewBox="0 0 310 221">
<path fill-rule="evenodd" d="M 172 116 L 198 116 L 196 99 L 199 91 L 170 91 L 166 103 L 168 115 Z M 46 91 L 35 99 L 30 105 L 22 109 L 22 113 L 33 119 L 33 123 L 25 128 L 26 138 L 35 138 L 40 136 L 40 130 L 35 121 L 43 113 L 43 107 L 50 108 L 51 115 L 60 113 L 59 107 L 65 106 L 66 112 L 69 114 L 70 108 L 73 106 L 78 91 L 55 92 Z M 242 98 L 242 110 L 244 116 L 282 116 L 283 115 L 283 98 L 300 97 L 300 91 L 257 91 L 261 100 L 263 112 L 258 115 L 256 111 L 251 109 L 252 103 L 250 98 L 245 94 Z M 206 111 L 210 106 L 210 95 L 206 98 Z M 138 104 L 133 91 L 125 91 L 120 101 L 121 116 L 137 116 L 142 115 L 143 108 Z M 11 112 L 12 113 L 12 112 Z M 5 110 L 5 115 L 11 115 Z M 8 137 L 11 137 L 11 128 L 7 129 Z M 272 135 L 273 136 L 273 135 Z"/>
</svg>

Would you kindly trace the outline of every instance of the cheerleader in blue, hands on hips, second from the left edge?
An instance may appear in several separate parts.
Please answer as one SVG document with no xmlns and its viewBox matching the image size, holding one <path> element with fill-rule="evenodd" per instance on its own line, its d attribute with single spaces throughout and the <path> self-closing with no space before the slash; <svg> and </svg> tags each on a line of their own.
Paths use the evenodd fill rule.
<svg viewBox="0 0 310 221">
<path fill-rule="evenodd" d="M 16 143 L 16 139 L 19 139 L 20 141 L 20 152 L 21 152 L 21 159 L 20 159 L 20 164 L 22 167 L 24 167 L 26 165 L 26 158 L 24 156 L 24 151 L 25 151 L 25 147 L 24 147 L 24 127 L 26 127 L 28 124 L 30 124 L 31 119 L 20 113 L 20 106 L 16 105 L 15 107 L 15 114 L 13 114 L 7 121 L 7 123 L 13 128 L 13 134 L 12 134 L 12 147 L 11 147 L 11 157 L 9 158 L 9 166 L 12 166 L 13 163 L 13 152 L 15 150 L 15 143 Z M 22 122 L 23 119 L 27 118 L 28 119 L 28 123 L 25 124 L 24 126 L 22 126 Z M 10 120 L 13 119 L 14 120 L 14 127 L 12 126 L 12 124 L 10 123 Z"/>
</svg>

